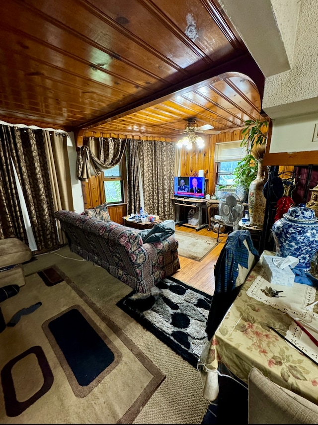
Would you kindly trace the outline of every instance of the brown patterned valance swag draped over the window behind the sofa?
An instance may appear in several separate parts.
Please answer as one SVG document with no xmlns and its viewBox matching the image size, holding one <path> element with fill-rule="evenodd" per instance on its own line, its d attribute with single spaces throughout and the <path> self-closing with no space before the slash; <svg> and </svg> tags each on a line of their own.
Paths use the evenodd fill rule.
<svg viewBox="0 0 318 425">
<path fill-rule="evenodd" d="M 112 137 L 84 137 L 77 160 L 77 178 L 87 181 L 91 169 L 95 175 L 119 164 L 125 152 L 127 139 Z"/>
</svg>

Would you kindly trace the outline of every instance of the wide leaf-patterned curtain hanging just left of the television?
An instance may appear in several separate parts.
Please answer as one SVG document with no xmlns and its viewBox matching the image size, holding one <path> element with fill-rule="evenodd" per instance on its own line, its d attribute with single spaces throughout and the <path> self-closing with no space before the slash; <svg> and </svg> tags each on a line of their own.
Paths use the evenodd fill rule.
<svg viewBox="0 0 318 425">
<path fill-rule="evenodd" d="M 145 211 L 162 219 L 173 219 L 175 143 L 138 141 Z"/>
</svg>

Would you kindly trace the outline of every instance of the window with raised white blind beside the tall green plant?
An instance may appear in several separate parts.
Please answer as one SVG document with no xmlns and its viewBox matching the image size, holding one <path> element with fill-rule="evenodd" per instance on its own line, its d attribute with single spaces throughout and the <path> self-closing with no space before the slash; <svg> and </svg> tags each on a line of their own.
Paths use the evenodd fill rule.
<svg viewBox="0 0 318 425">
<path fill-rule="evenodd" d="M 247 154 L 247 148 L 236 142 L 217 143 L 215 145 L 214 161 L 216 163 L 216 184 L 231 186 L 234 180 L 233 171 L 238 162 Z"/>
</svg>

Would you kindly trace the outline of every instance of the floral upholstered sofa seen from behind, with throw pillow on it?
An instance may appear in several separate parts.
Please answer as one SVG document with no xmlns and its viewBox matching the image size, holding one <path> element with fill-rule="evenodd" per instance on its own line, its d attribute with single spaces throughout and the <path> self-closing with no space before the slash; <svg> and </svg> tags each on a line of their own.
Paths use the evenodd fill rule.
<svg viewBox="0 0 318 425">
<path fill-rule="evenodd" d="M 146 293 L 180 268 L 171 229 L 140 231 L 110 220 L 107 205 L 79 214 L 55 212 L 73 253 L 105 268 L 136 292 Z M 158 227 L 158 231 L 156 231 Z"/>
</svg>

